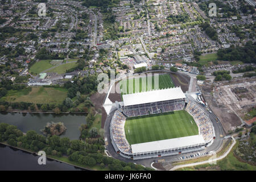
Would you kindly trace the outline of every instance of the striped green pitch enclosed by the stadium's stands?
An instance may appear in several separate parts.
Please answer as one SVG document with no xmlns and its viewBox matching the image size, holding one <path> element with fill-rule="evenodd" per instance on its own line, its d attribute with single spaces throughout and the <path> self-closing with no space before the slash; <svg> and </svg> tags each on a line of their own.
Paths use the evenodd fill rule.
<svg viewBox="0 0 256 182">
<path fill-rule="evenodd" d="M 198 127 L 185 110 L 127 118 L 125 135 L 130 144 L 198 135 Z"/>
</svg>

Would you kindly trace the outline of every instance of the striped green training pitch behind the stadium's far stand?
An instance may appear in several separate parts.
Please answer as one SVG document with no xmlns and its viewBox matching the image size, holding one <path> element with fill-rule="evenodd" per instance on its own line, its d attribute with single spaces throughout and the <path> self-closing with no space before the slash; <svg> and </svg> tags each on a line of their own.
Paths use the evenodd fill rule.
<svg viewBox="0 0 256 182">
<path fill-rule="evenodd" d="M 155 89 L 154 84 L 155 84 L 155 79 L 157 78 L 156 76 L 131 78 L 128 80 L 121 81 L 121 84 L 120 84 L 121 95 L 123 93 L 130 94 L 130 93 L 145 92 L 145 91 L 150 90 L 149 88 L 147 88 L 148 87 L 147 82 L 148 82 L 149 78 L 152 78 L 152 88 L 151 89 Z M 135 83 L 136 83 L 136 85 L 138 85 L 138 86 L 136 86 L 136 88 L 135 88 Z M 125 92 L 125 90 L 122 89 L 123 85 L 126 85 L 127 92 Z M 168 74 L 159 75 L 159 89 L 172 88 L 172 87 L 174 87 L 174 83 L 172 82 L 170 75 L 168 75 Z"/>
</svg>

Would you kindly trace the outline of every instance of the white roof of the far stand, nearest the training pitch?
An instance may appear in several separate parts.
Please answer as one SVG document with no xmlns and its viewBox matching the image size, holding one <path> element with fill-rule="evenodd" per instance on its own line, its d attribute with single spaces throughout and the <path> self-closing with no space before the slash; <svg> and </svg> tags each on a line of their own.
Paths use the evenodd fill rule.
<svg viewBox="0 0 256 182">
<path fill-rule="evenodd" d="M 123 105 L 130 106 L 151 102 L 169 101 L 179 98 L 185 98 L 185 94 L 182 92 L 180 87 L 151 90 L 147 92 L 124 94 Z"/>
</svg>

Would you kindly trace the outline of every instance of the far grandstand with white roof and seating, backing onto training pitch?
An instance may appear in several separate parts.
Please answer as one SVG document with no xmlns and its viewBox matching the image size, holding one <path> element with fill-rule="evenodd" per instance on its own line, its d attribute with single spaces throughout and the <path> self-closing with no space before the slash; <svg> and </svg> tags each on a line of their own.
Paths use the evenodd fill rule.
<svg viewBox="0 0 256 182">
<path fill-rule="evenodd" d="M 185 95 L 180 87 L 150 92 L 123 95 L 122 113 L 126 117 L 137 117 L 182 110 L 185 106 Z"/>
</svg>

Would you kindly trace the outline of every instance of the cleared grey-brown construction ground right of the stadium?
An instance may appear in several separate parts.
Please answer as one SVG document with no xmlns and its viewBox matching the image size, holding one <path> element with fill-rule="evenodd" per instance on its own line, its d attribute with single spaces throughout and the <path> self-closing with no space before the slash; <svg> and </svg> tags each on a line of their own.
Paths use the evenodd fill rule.
<svg viewBox="0 0 256 182">
<path fill-rule="evenodd" d="M 243 118 L 256 105 L 256 78 L 214 82 L 214 85 L 205 82 L 200 88 L 226 134 L 245 125 Z"/>
</svg>

